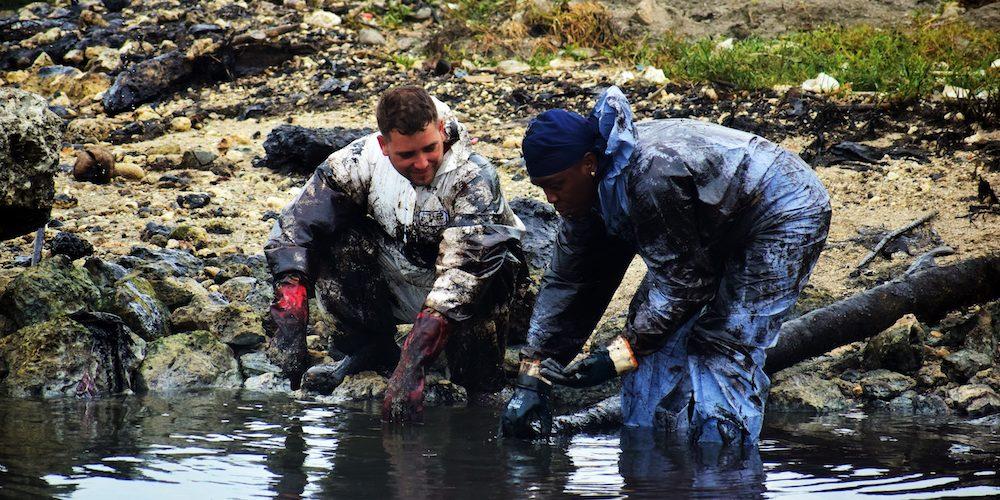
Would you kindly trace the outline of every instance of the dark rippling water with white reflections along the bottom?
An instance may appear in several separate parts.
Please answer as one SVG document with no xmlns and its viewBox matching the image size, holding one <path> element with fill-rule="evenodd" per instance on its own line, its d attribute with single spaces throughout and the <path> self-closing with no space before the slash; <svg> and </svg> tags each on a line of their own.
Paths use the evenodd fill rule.
<svg viewBox="0 0 1000 500">
<path fill-rule="evenodd" d="M 500 498 L 998 495 L 1000 438 L 949 422 L 770 418 L 758 448 L 692 453 L 650 430 L 497 441 L 496 415 L 212 393 L 0 400 L 0 497 Z"/>
</svg>

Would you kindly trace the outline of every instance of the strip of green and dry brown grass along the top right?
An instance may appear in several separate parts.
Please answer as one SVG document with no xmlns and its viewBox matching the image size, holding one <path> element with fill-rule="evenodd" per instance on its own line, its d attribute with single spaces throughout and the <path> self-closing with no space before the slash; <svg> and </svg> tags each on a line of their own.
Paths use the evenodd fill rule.
<svg viewBox="0 0 1000 500">
<path fill-rule="evenodd" d="M 622 33 L 595 2 L 562 2 L 547 10 L 514 2 L 459 2 L 447 12 L 467 36 L 443 44 L 443 54 L 485 62 L 515 57 L 542 66 L 568 49 L 586 47 L 612 63 L 659 67 L 675 81 L 755 89 L 798 85 L 824 72 L 854 91 L 901 100 L 927 96 L 944 85 L 973 95 L 1000 90 L 1000 69 L 990 68 L 1000 57 L 1000 32 L 960 21 L 916 18 L 885 28 L 829 26 L 777 38 L 750 37 L 720 49 L 718 39 Z"/>
</svg>

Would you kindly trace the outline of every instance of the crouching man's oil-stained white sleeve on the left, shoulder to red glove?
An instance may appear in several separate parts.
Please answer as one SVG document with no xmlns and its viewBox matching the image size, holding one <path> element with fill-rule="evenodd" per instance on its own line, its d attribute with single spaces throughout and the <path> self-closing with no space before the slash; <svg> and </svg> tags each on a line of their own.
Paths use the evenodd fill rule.
<svg viewBox="0 0 1000 500">
<path fill-rule="evenodd" d="M 318 239 L 329 239 L 356 216 L 367 196 L 370 168 L 367 138 L 333 153 L 313 173 L 302 192 L 281 211 L 264 255 L 273 276 L 296 272 L 311 276 L 311 252 Z M 367 173 L 367 178 L 365 174 Z"/>
</svg>

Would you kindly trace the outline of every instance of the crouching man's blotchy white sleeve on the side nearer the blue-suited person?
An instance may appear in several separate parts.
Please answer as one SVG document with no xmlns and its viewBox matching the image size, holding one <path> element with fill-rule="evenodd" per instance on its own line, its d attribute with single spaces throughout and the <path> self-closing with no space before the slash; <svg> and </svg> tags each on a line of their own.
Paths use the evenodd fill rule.
<svg viewBox="0 0 1000 500">
<path fill-rule="evenodd" d="M 524 229 L 504 201 L 500 181 L 489 167 L 465 184 L 451 210 L 452 226 L 442 232 L 437 279 L 424 306 L 451 321 L 471 317 L 476 304 L 504 264 L 516 256 Z M 508 266 L 509 269 L 509 266 Z"/>
</svg>

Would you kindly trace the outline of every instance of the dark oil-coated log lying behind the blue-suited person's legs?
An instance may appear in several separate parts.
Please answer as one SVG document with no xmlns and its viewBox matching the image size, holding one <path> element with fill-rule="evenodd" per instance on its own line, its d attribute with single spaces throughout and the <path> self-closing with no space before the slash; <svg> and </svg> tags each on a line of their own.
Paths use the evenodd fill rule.
<svg viewBox="0 0 1000 500">
<path fill-rule="evenodd" d="M 905 314 L 935 321 L 955 309 L 1000 297 L 1000 256 L 930 267 L 816 309 L 781 325 L 767 350 L 764 371 L 773 374 L 836 347 L 867 339 Z M 557 434 L 600 432 L 621 425 L 621 398 L 612 396 L 579 412 L 560 415 Z"/>
</svg>

